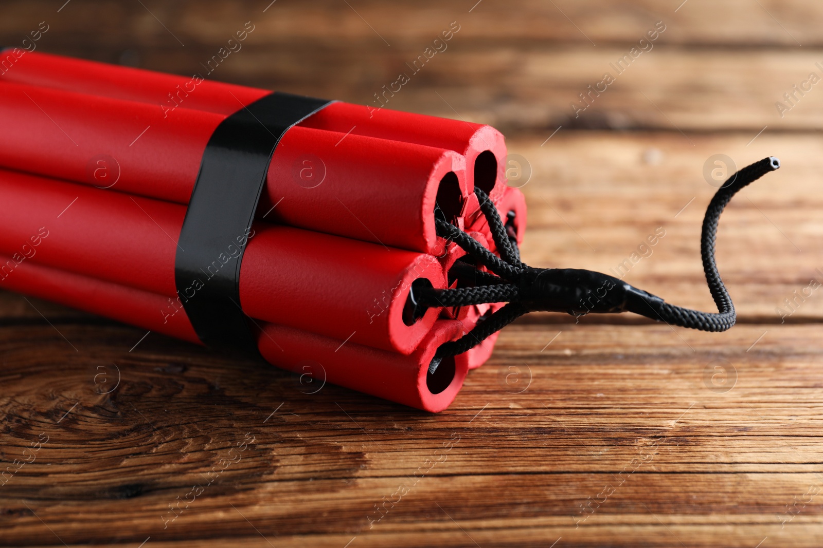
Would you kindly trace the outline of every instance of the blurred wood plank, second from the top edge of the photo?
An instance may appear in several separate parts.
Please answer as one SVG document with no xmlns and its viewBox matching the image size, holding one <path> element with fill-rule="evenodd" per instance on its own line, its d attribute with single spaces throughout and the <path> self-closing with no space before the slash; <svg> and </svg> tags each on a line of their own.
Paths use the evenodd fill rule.
<svg viewBox="0 0 823 548">
<path fill-rule="evenodd" d="M 457 40 L 457 38 L 455 38 Z M 142 67 L 182 74 L 203 73 L 215 46 L 142 52 Z M 84 58 L 116 62 L 120 53 L 92 54 L 90 48 L 45 48 Z M 267 89 L 321 95 L 378 108 L 430 113 L 490 123 L 501 131 L 580 129 L 662 129 L 685 131 L 811 131 L 823 121 L 823 93 L 817 87 L 789 103 L 783 94 L 814 72 L 820 50 L 716 52 L 658 46 L 622 74 L 610 67 L 628 48 L 493 48 L 453 44 L 419 73 L 409 68 L 421 48 L 373 48 L 298 52 L 267 47 L 240 50 L 210 77 Z M 425 74 L 424 74 L 425 71 Z M 615 81 L 603 85 L 608 72 Z M 398 93 L 385 91 L 399 74 L 410 81 Z M 592 91 L 587 103 L 580 94 Z M 388 90 L 388 87 L 386 88 Z M 398 89 L 398 85 L 395 85 Z M 377 94 L 385 99 L 377 99 Z M 595 94 L 597 93 L 597 94 Z M 779 111 L 781 103 L 790 110 Z M 573 106 L 574 105 L 574 106 Z M 794 105 L 794 106 L 792 106 Z M 577 109 L 586 108 L 584 111 Z M 783 116 L 781 117 L 781 114 Z M 750 139 L 751 139 L 750 136 Z"/>
</svg>

